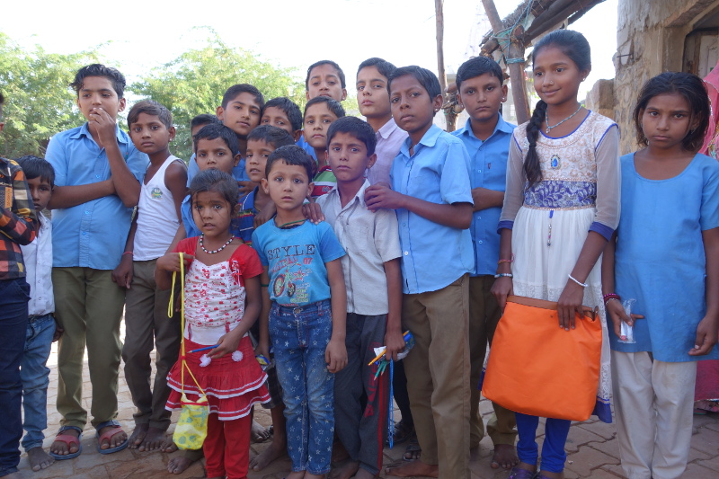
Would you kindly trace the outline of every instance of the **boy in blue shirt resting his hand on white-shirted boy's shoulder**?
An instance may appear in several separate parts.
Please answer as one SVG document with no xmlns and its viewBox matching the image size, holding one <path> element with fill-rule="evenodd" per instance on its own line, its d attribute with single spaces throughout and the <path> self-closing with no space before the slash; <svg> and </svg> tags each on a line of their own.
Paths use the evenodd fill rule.
<svg viewBox="0 0 719 479">
<path fill-rule="evenodd" d="M 475 269 L 467 231 L 469 157 L 460 140 L 432 123 L 442 105 L 436 75 L 421 67 L 397 68 L 387 84 L 392 116 L 409 137 L 392 164 L 394 190 L 370 186 L 365 201 L 373 211 L 396 209 L 403 250 L 402 325 L 416 339 L 404 368 L 422 448 L 421 460 L 387 472 L 468 479 L 467 276 Z"/>
</svg>

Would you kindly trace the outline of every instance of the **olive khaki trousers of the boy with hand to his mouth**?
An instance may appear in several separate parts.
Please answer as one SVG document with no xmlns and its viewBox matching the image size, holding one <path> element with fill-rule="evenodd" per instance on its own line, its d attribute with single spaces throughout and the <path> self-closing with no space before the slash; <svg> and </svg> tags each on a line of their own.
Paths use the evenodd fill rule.
<svg viewBox="0 0 719 479">
<path fill-rule="evenodd" d="M 93 426 L 118 413 L 120 318 L 125 290 L 111 279 L 112 271 L 53 268 L 55 317 L 65 329 L 58 346 L 58 412 L 65 426 L 84 428 L 83 356 L 87 347 L 93 398 Z"/>
</svg>

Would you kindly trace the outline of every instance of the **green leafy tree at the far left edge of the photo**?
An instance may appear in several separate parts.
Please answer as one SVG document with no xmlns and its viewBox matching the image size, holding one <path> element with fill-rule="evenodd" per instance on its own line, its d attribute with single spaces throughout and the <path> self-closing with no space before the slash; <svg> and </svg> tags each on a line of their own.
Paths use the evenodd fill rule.
<svg viewBox="0 0 719 479">
<path fill-rule="evenodd" d="M 44 155 L 52 135 L 82 124 L 68 84 L 79 68 L 96 61 L 93 51 L 59 55 L 37 45 L 25 51 L 0 32 L 0 90 L 5 97 L 0 155 Z"/>
</svg>

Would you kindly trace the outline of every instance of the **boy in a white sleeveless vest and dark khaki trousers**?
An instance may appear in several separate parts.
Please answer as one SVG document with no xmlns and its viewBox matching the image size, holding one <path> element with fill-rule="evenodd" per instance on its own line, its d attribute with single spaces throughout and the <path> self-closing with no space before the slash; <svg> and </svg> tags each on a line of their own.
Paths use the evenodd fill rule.
<svg viewBox="0 0 719 479">
<path fill-rule="evenodd" d="M 170 389 L 167 373 L 180 349 L 180 323 L 167 316 L 170 291 L 155 284 L 155 263 L 182 227 L 180 206 L 187 191 L 187 166 L 170 154 L 173 115 L 152 100 L 138 102 L 128 114 L 129 137 L 150 158 L 133 220 L 114 279 L 125 295 L 125 342 L 122 360 L 135 412 L 129 448 L 140 451 L 169 446 L 164 431 L 170 412 L 164 409 Z M 155 382 L 150 388 L 150 352 L 156 349 Z"/>
</svg>

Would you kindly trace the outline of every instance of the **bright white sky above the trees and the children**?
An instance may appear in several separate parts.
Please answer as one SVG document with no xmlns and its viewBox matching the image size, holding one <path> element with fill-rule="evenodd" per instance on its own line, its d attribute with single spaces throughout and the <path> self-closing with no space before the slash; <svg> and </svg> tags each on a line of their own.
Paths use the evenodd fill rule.
<svg viewBox="0 0 719 479">
<path fill-rule="evenodd" d="M 593 70 L 585 82 L 612 78 L 617 50 L 617 1 L 607 0 L 587 13 L 573 30 L 592 47 Z M 495 0 L 502 17 L 519 0 Z M 114 13 L 108 10 L 121 8 Z M 432 0 L 213 0 L 136 3 L 97 2 L 92 5 L 28 0 L 4 2 L 0 31 L 25 48 L 34 44 L 52 53 L 73 53 L 100 44 L 106 63 L 119 67 L 128 83 L 153 67 L 199 47 L 209 26 L 229 45 L 253 50 L 263 60 L 297 70 L 332 59 L 347 75 L 347 88 L 361 61 L 381 57 L 397 67 L 420 65 L 437 71 L 435 15 Z M 489 30 L 481 0 L 445 0 L 444 55 L 453 73 Z M 109 42 L 109 44 L 108 44 Z M 237 78 L 242 83 L 242 78 Z"/>
</svg>

